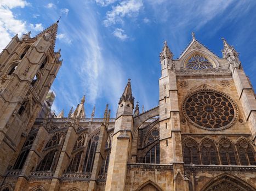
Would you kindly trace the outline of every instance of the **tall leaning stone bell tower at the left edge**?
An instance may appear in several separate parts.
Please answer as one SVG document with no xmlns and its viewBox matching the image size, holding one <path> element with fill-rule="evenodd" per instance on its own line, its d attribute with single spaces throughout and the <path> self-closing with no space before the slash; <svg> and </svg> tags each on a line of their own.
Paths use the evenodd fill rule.
<svg viewBox="0 0 256 191">
<path fill-rule="evenodd" d="M 58 22 L 30 37 L 15 35 L 0 54 L 0 180 L 13 166 L 62 61 Z M 11 156 L 11 157 L 10 157 Z"/>
</svg>

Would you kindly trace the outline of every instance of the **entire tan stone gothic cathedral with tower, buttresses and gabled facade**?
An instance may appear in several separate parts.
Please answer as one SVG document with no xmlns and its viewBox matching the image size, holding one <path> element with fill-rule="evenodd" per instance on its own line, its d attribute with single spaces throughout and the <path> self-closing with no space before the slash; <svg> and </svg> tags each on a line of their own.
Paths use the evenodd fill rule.
<svg viewBox="0 0 256 191">
<path fill-rule="evenodd" d="M 0 55 L 1 191 L 256 190 L 255 93 L 225 39 L 222 58 L 194 34 L 178 59 L 164 42 L 159 105 L 140 112 L 128 80 L 116 117 L 106 105 L 95 118 L 84 97 L 50 111 L 57 29 L 15 35 Z"/>
</svg>

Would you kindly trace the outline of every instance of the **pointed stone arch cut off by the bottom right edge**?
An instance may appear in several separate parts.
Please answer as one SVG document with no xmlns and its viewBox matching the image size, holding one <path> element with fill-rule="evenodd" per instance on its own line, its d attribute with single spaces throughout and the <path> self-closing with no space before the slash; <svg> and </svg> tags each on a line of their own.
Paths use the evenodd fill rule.
<svg viewBox="0 0 256 191">
<path fill-rule="evenodd" d="M 225 189 L 226 188 L 226 189 Z M 208 181 L 201 191 L 217 191 L 217 190 L 239 190 L 239 191 L 254 191 L 255 189 L 246 181 L 243 181 L 241 178 L 230 175 L 227 173 L 220 174 L 212 180 Z"/>
</svg>

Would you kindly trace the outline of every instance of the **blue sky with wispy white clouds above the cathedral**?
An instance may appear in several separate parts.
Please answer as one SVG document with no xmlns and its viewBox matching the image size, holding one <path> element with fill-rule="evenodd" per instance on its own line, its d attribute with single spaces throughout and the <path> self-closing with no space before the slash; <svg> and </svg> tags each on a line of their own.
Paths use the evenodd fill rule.
<svg viewBox="0 0 256 191">
<path fill-rule="evenodd" d="M 115 117 L 128 78 L 140 109 L 158 105 L 163 41 L 177 58 L 192 31 L 219 57 L 221 37 L 234 45 L 255 87 L 255 9 L 254 0 L 0 0 L 0 49 L 16 33 L 34 36 L 61 15 L 55 51 L 64 61 L 52 86 L 53 110 L 67 115 L 86 94 L 88 117 L 94 105 L 95 117 L 103 117 L 107 103 Z"/>
</svg>

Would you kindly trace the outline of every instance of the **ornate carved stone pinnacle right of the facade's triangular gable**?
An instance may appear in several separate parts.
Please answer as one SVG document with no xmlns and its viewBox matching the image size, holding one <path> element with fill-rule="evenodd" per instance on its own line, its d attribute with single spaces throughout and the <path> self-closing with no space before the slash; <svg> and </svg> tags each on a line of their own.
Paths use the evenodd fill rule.
<svg viewBox="0 0 256 191">
<path fill-rule="evenodd" d="M 223 58 L 226 58 L 229 64 L 234 64 L 234 67 L 240 68 L 241 62 L 238 58 L 238 52 L 224 38 L 221 39 L 223 40 Z"/>
</svg>

